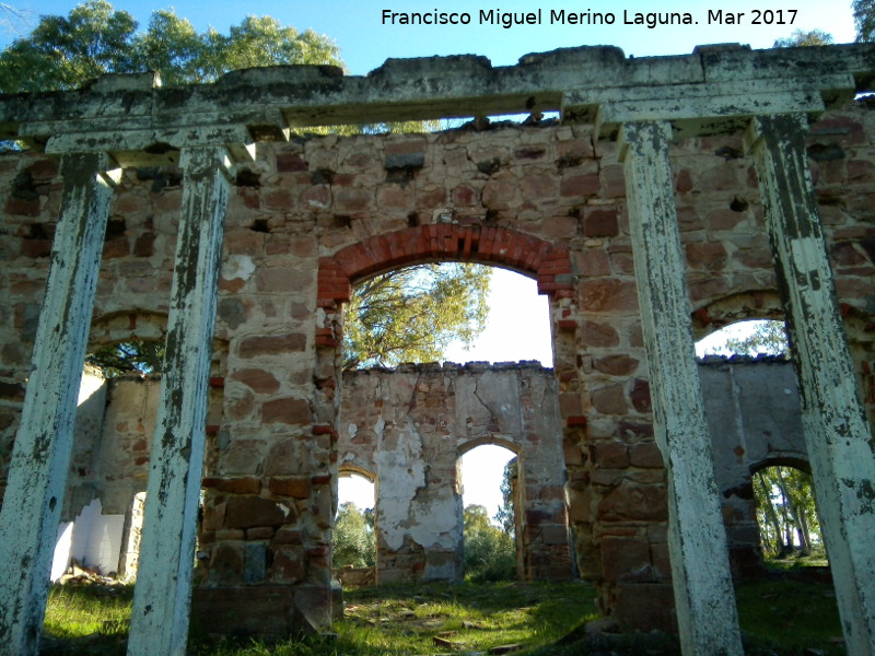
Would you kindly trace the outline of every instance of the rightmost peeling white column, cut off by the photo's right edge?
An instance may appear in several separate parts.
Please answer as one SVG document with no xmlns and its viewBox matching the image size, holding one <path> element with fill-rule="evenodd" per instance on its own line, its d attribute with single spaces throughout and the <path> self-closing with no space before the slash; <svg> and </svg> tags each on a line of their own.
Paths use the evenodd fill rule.
<svg viewBox="0 0 875 656">
<path fill-rule="evenodd" d="M 875 443 L 860 401 L 805 154 L 804 115 L 752 119 L 747 144 L 800 379 L 848 654 L 875 654 Z"/>
</svg>

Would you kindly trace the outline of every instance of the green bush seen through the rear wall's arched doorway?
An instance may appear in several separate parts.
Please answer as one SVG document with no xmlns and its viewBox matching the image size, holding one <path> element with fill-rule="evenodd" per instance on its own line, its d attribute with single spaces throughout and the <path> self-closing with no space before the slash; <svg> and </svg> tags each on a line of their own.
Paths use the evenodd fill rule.
<svg viewBox="0 0 875 656">
<path fill-rule="evenodd" d="M 510 581 L 516 577 L 516 544 L 512 535 L 489 522 L 481 505 L 463 513 L 465 577 L 475 583 Z"/>
</svg>

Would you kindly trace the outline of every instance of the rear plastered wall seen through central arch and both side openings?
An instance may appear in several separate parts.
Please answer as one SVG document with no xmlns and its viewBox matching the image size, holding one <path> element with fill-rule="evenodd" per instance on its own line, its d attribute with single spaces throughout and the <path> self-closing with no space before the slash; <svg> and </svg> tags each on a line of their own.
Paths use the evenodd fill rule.
<svg viewBox="0 0 875 656">
<path fill-rule="evenodd" d="M 769 358 L 709 359 L 699 374 L 733 562 L 742 574 L 757 573 L 762 560 L 751 475 L 773 464 L 808 467 L 796 377 L 789 361 Z M 126 548 L 135 496 L 145 489 L 159 384 L 159 377 L 114 379 L 80 405 L 77 417 L 63 519 L 73 520 L 96 499 L 104 515 L 127 516 L 124 536 L 119 526 L 114 538 L 124 538 Z M 505 446 L 518 458 L 521 576 L 571 575 L 556 386 L 552 370 L 526 363 L 343 374 L 338 468 L 377 483 L 378 581 L 460 578 L 458 464 L 482 444 Z M 623 501 L 634 503 L 617 500 Z M 114 563 L 106 572 L 117 569 Z"/>
</svg>

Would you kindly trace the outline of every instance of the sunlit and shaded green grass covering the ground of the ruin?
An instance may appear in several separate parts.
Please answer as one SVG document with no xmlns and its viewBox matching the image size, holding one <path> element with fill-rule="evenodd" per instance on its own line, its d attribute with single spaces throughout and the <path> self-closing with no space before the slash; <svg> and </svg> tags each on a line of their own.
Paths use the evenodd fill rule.
<svg viewBox="0 0 875 656">
<path fill-rule="evenodd" d="M 121 656 L 130 587 L 55 587 L 49 596 L 43 656 Z M 736 590 L 748 656 L 844 653 L 831 586 L 788 577 Z M 595 593 L 571 584 L 429 584 L 347 590 L 335 635 L 278 645 L 197 643 L 190 656 L 401 656 L 471 654 L 522 644 L 528 656 L 677 656 L 674 636 L 587 637 Z"/>
</svg>

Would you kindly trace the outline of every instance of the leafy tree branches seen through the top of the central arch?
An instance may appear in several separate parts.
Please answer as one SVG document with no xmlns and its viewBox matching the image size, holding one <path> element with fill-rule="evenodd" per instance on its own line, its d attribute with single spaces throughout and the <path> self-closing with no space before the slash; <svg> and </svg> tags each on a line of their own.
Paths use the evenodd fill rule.
<svg viewBox="0 0 875 656">
<path fill-rule="evenodd" d="M 366 280 L 345 320 L 343 368 L 439 360 L 453 340 L 482 330 L 491 270 L 475 265 L 419 265 Z"/>
</svg>

